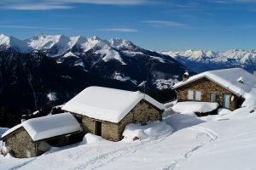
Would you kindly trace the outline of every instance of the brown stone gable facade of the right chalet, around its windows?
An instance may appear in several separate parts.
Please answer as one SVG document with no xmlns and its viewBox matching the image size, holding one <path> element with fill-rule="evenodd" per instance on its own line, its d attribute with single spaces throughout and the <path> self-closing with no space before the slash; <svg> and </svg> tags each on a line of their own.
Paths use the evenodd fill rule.
<svg viewBox="0 0 256 170">
<path fill-rule="evenodd" d="M 188 99 L 188 91 L 200 91 L 201 92 L 201 101 L 202 102 L 210 102 L 210 94 L 216 94 L 216 102 L 219 104 L 220 107 L 223 107 L 224 104 L 224 94 L 230 95 L 230 109 L 231 111 L 236 109 L 236 97 L 235 94 L 232 94 L 226 88 L 219 86 L 217 83 L 208 80 L 207 78 L 203 77 L 195 82 L 189 82 L 179 88 L 176 88 L 177 91 L 177 101 L 197 101 L 195 100 L 195 93 L 194 99 Z M 232 97 L 234 96 L 234 97 Z"/>
</svg>

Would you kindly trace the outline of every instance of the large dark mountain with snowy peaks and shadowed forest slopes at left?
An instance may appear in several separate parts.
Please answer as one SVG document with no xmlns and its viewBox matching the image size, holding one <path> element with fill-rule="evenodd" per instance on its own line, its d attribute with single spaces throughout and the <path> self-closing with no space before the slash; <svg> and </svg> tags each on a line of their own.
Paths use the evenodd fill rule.
<svg viewBox="0 0 256 170">
<path fill-rule="evenodd" d="M 93 85 L 138 90 L 147 81 L 148 92 L 170 88 L 186 70 L 168 55 L 120 38 L 38 35 L 20 40 L 2 34 L 0 124 L 11 127 L 18 116 L 61 105 Z"/>
</svg>

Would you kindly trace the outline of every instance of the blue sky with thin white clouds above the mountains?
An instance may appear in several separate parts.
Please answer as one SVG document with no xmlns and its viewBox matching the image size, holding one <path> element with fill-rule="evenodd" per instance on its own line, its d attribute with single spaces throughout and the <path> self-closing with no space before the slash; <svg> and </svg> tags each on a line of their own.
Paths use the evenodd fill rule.
<svg viewBox="0 0 256 170">
<path fill-rule="evenodd" d="M 0 0 L 0 33 L 121 37 L 151 50 L 256 48 L 256 0 Z"/>
</svg>

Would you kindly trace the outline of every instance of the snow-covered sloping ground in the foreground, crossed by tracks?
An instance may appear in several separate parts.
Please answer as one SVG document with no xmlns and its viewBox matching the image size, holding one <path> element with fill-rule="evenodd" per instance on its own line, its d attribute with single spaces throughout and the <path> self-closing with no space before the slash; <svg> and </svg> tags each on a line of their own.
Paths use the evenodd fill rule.
<svg viewBox="0 0 256 170">
<path fill-rule="evenodd" d="M 116 143 L 86 134 L 80 144 L 36 158 L 0 156 L 0 169 L 256 169 L 255 122 L 254 106 L 201 118 L 174 114 L 131 124 Z"/>
</svg>

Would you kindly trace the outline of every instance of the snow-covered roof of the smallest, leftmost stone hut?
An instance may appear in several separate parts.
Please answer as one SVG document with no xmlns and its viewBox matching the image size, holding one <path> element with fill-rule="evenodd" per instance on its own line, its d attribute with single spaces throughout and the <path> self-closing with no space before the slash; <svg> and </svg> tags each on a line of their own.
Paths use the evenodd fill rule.
<svg viewBox="0 0 256 170">
<path fill-rule="evenodd" d="M 82 130 L 79 122 L 71 113 L 61 113 L 29 119 L 10 128 L 3 133 L 2 138 L 16 129 L 24 127 L 33 141 L 48 139 L 62 134 L 74 133 Z"/>
</svg>

